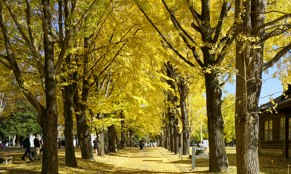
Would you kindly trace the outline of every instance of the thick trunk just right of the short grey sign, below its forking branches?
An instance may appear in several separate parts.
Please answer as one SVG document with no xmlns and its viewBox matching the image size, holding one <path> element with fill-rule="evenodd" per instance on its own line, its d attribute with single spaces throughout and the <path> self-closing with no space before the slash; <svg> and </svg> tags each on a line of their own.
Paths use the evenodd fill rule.
<svg viewBox="0 0 291 174">
<path fill-rule="evenodd" d="M 223 129 L 224 122 L 221 114 L 222 90 L 218 86 L 217 70 L 205 73 L 206 108 L 208 119 L 209 146 L 209 171 L 223 172 L 228 168 L 228 159 L 225 151 Z"/>
</svg>

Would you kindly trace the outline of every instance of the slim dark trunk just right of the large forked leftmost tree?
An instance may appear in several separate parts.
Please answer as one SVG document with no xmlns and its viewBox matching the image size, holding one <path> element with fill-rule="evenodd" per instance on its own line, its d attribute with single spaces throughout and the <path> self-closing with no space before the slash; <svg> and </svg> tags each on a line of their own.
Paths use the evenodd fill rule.
<svg viewBox="0 0 291 174">
<path fill-rule="evenodd" d="M 71 55 L 67 55 L 67 58 L 70 59 Z M 62 78 L 63 81 L 66 79 Z M 78 167 L 75 149 L 74 149 L 74 122 L 73 122 L 73 94 L 74 87 L 72 84 L 68 86 L 63 86 L 62 95 L 63 95 L 63 116 L 65 119 L 65 164 L 68 167 Z"/>
</svg>

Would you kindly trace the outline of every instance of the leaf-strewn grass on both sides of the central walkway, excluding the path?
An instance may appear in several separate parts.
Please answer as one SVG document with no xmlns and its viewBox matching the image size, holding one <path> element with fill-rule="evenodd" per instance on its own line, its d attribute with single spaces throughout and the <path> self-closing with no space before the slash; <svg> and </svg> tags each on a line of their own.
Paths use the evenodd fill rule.
<svg viewBox="0 0 291 174">
<path fill-rule="evenodd" d="M 160 151 L 171 163 L 173 163 L 184 173 L 208 173 L 207 171 L 209 166 L 209 159 L 196 159 L 196 170 L 190 171 L 191 159 L 188 158 L 188 155 L 184 155 L 183 161 L 181 161 L 178 159 L 178 155 L 173 155 L 173 153 L 168 152 L 164 148 L 156 147 L 156 149 Z M 32 150 L 34 150 L 34 148 L 32 148 Z M 65 166 L 65 149 L 64 147 L 62 147 L 61 149 L 58 149 L 59 173 L 110 173 L 109 170 L 113 168 L 116 164 L 118 164 L 124 157 L 127 157 L 127 155 L 133 150 L 134 148 L 126 148 L 124 150 L 118 151 L 117 153 L 111 153 L 110 156 L 106 155 L 105 158 L 98 157 L 96 158 L 96 161 L 88 161 L 81 158 L 80 148 L 75 148 L 77 163 L 79 167 L 69 168 Z M 24 154 L 24 151 L 24 148 L 21 147 L 8 147 L 6 149 L 0 148 L 0 156 L 15 156 L 13 165 L 0 165 L 0 173 L 40 173 L 42 161 L 21 161 L 20 159 Z M 226 147 L 226 153 L 229 162 L 228 173 L 235 174 L 237 173 L 235 147 Z M 25 159 L 29 159 L 28 155 Z M 260 172 L 262 174 L 287 174 L 288 164 L 283 163 L 282 160 L 283 157 L 259 155 Z"/>
</svg>

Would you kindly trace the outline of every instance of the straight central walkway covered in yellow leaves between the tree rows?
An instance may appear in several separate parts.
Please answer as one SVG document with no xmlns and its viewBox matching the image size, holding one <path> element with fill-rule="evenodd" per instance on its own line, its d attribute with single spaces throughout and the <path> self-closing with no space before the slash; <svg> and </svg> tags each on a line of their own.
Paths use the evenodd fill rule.
<svg viewBox="0 0 291 174">
<path fill-rule="evenodd" d="M 143 151 L 136 148 L 127 157 L 124 157 L 108 173 L 118 174 L 150 174 L 150 173 L 180 173 L 174 164 L 164 157 L 157 149 L 145 147 Z"/>
</svg>

